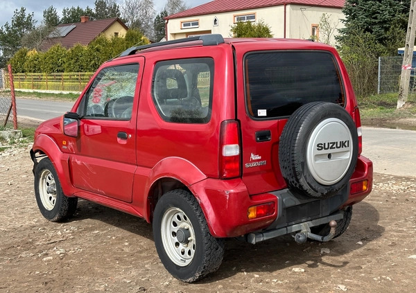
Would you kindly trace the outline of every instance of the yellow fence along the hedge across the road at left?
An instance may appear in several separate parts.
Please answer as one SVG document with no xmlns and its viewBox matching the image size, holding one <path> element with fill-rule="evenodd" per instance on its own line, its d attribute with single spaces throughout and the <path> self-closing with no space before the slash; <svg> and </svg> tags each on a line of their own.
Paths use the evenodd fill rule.
<svg viewBox="0 0 416 293">
<path fill-rule="evenodd" d="M 83 91 L 93 72 L 15 73 L 15 89 Z"/>
</svg>

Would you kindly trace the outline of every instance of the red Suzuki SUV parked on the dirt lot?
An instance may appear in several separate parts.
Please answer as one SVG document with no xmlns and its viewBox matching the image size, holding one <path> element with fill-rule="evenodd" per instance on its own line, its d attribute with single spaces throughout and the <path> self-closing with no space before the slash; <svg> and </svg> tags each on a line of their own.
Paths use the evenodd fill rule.
<svg viewBox="0 0 416 293">
<path fill-rule="evenodd" d="M 71 112 L 40 125 L 35 196 L 143 217 L 175 278 L 220 266 L 224 238 L 327 241 L 372 188 L 345 66 L 331 46 L 203 35 L 105 62 Z"/>
</svg>

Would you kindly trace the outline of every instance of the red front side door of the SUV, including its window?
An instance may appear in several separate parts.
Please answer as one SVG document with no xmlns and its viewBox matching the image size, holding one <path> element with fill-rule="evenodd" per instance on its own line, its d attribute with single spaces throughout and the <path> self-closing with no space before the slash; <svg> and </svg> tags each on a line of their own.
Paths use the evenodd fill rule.
<svg viewBox="0 0 416 293">
<path fill-rule="evenodd" d="M 132 201 L 137 169 L 135 125 L 144 59 L 106 66 L 80 103 L 80 135 L 70 166 L 73 185 Z"/>
</svg>

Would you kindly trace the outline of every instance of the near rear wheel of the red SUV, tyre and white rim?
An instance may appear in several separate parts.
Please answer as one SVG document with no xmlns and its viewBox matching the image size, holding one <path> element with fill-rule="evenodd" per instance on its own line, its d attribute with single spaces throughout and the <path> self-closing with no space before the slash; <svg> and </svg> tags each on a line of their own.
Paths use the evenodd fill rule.
<svg viewBox="0 0 416 293">
<path fill-rule="evenodd" d="M 186 190 L 171 190 L 159 199 L 153 235 L 164 267 L 181 281 L 197 281 L 223 260 L 224 240 L 211 236 L 202 209 Z"/>
</svg>

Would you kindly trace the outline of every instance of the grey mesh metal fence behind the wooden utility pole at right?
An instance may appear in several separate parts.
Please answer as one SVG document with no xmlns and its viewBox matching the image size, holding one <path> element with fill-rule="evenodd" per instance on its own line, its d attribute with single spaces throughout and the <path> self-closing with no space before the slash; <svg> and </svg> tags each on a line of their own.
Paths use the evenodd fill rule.
<svg viewBox="0 0 416 293">
<path fill-rule="evenodd" d="M 378 94 L 398 93 L 403 56 L 379 57 Z M 416 91 L 416 57 L 413 57 L 409 91 Z"/>
</svg>

